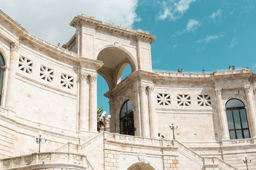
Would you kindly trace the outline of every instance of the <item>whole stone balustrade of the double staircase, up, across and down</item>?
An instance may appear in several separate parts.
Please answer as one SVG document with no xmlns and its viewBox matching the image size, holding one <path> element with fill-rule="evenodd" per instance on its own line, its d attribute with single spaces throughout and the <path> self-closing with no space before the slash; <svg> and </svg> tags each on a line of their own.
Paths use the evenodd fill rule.
<svg viewBox="0 0 256 170">
<path fill-rule="evenodd" d="M 127 145 L 138 145 L 138 146 L 148 146 L 148 147 L 157 147 L 157 148 L 175 148 L 177 152 L 184 155 L 190 160 L 193 160 L 196 164 L 204 167 L 204 169 L 222 169 L 222 170 L 237 170 L 236 167 L 227 164 L 225 161 L 217 158 L 217 157 L 202 157 L 198 153 L 194 152 L 190 148 L 182 145 L 179 141 L 176 140 L 166 140 L 166 139 L 152 139 L 152 138 L 143 138 L 139 136 L 128 136 L 117 133 L 110 132 L 100 132 L 94 138 L 89 139 L 83 145 L 75 145 L 73 143 L 67 143 L 56 152 L 71 152 L 71 153 L 79 153 L 86 155 L 88 157 L 88 153 L 93 152 L 99 146 L 104 145 L 104 141 L 114 142 L 114 143 L 122 143 Z M 102 148 L 102 151 L 104 148 Z M 104 153 L 102 152 L 102 155 Z M 93 168 L 92 164 L 88 159 L 88 167 L 89 169 Z"/>
</svg>

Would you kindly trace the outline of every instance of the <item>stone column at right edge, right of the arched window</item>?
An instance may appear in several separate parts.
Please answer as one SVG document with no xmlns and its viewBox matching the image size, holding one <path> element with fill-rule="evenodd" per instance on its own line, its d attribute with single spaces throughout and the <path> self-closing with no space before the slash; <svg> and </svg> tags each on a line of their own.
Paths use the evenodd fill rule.
<svg viewBox="0 0 256 170">
<path fill-rule="evenodd" d="M 253 89 L 250 85 L 244 87 L 246 99 L 248 103 L 248 109 L 250 114 L 250 119 L 248 119 L 252 125 L 252 138 L 256 138 L 256 111 L 255 111 L 255 102 L 253 101 Z"/>
</svg>

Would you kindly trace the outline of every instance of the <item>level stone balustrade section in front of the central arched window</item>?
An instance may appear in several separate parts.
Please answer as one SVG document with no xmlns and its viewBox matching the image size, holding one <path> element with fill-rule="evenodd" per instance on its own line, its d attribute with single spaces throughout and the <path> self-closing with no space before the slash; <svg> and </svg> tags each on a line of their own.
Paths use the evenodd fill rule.
<svg viewBox="0 0 256 170">
<path fill-rule="evenodd" d="M 116 141 L 120 143 L 129 143 L 135 145 L 150 145 L 150 146 L 162 146 L 161 139 L 143 138 L 139 136 L 129 136 L 118 133 L 104 132 L 104 139 L 109 141 Z"/>
</svg>

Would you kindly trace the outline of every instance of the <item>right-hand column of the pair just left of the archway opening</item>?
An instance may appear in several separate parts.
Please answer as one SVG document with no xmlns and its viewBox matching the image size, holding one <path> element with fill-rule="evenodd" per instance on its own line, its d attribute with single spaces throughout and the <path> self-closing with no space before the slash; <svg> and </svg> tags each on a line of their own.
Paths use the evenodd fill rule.
<svg viewBox="0 0 256 170">
<path fill-rule="evenodd" d="M 90 131 L 97 132 L 97 76 L 90 75 Z"/>
</svg>

